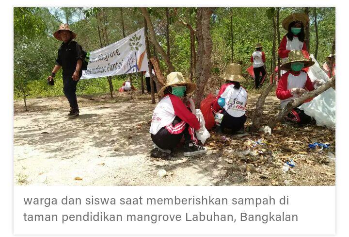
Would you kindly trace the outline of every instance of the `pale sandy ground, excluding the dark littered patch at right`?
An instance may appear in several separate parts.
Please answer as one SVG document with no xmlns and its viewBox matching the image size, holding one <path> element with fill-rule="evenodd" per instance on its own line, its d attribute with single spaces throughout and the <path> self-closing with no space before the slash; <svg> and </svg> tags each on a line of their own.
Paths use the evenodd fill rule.
<svg viewBox="0 0 349 237">
<path fill-rule="evenodd" d="M 321 154 L 314 152 L 309 157 L 304 152 L 296 155 L 298 164 L 301 164 L 297 167 L 297 174 L 283 173 L 280 167 L 260 167 L 258 164 L 255 164 L 258 172 L 246 173 L 241 169 L 246 162 L 229 158 L 224 149 L 214 146 L 199 157 L 184 157 L 180 150 L 169 161 L 150 157 L 149 122 L 156 104 L 150 103 L 148 95 L 136 94 L 132 101 L 127 97 L 126 93 L 117 93 L 112 100 L 106 96 L 79 97 L 80 116 L 76 119 L 64 117 L 69 112 L 64 97 L 28 100 L 29 112 L 23 112 L 22 101 L 15 101 L 14 184 L 307 186 L 335 183 L 334 164 L 318 162 Z M 247 110 L 254 108 L 256 99 L 256 95 L 249 95 Z M 276 110 L 279 106 L 273 96 L 268 97 L 267 104 L 266 113 L 268 109 Z M 319 135 L 327 133 L 323 128 L 319 131 Z M 249 135 L 251 139 L 257 136 Z M 289 136 L 291 138 L 292 134 Z M 334 139 L 334 133 L 331 137 Z M 245 142 L 245 139 L 230 138 L 230 141 Z M 208 140 L 210 142 L 212 140 Z M 308 141 L 299 142 L 306 147 Z M 230 152 L 237 149 L 226 148 Z M 165 169 L 167 176 L 159 177 L 159 169 Z M 270 177 L 261 177 L 261 172 L 267 172 Z"/>
</svg>

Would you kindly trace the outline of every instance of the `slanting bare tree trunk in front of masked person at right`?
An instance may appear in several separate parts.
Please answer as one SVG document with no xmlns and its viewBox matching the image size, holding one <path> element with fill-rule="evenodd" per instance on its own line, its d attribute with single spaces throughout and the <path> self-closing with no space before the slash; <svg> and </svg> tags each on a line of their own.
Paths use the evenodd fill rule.
<svg viewBox="0 0 349 237">
<path fill-rule="evenodd" d="M 299 106 L 300 104 L 302 104 L 303 102 L 305 102 L 310 98 L 317 97 L 319 94 L 321 94 L 322 92 L 326 91 L 328 88 L 334 85 L 335 85 L 335 76 L 331 77 L 331 79 L 328 80 L 324 85 L 317 87 L 317 89 L 313 91 L 309 91 L 301 95 L 300 97 L 294 100 L 291 100 L 281 111 L 279 111 L 275 115 L 273 119 L 270 120 L 270 122 L 268 123 L 268 126 L 271 128 L 271 130 L 273 130 L 276 124 L 278 122 L 281 122 L 292 109 L 296 108 L 297 106 Z"/>
</svg>

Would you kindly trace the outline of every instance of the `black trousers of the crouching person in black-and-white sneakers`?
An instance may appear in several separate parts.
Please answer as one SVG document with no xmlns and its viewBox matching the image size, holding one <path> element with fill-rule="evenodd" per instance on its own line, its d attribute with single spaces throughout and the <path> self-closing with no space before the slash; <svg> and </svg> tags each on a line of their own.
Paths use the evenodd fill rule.
<svg viewBox="0 0 349 237">
<path fill-rule="evenodd" d="M 172 126 L 175 126 L 182 122 L 178 116 L 174 118 L 172 122 Z M 184 136 L 185 141 L 193 140 L 196 144 L 198 143 L 198 139 L 196 138 L 195 131 L 193 128 L 189 126 L 188 123 L 185 124 L 184 130 L 179 134 L 170 133 L 166 127 L 162 127 L 156 135 L 151 134 L 151 138 L 155 145 L 164 150 L 172 150 L 174 149 Z"/>
</svg>

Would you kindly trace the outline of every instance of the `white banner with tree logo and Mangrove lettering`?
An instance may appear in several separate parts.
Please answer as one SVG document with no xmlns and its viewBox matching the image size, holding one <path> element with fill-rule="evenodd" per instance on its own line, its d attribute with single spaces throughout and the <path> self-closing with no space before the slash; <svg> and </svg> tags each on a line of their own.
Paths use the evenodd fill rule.
<svg viewBox="0 0 349 237">
<path fill-rule="evenodd" d="M 122 75 L 148 70 L 144 28 L 99 50 L 90 52 L 81 79 Z"/>
</svg>

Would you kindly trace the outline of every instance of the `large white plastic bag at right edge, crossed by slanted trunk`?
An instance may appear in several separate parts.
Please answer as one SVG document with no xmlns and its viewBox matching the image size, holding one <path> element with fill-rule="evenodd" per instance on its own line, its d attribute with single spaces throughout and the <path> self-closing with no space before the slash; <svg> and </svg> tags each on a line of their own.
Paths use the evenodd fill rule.
<svg viewBox="0 0 349 237">
<path fill-rule="evenodd" d="M 316 79 L 322 79 L 327 82 L 329 77 L 320 68 L 313 54 L 310 57 L 315 62 L 308 71 L 310 80 L 313 82 Z M 332 87 L 315 97 L 312 101 L 303 103 L 299 108 L 305 114 L 313 117 L 317 122 L 317 126 L 335 129 L 335 91 Z"/>
</svg>

